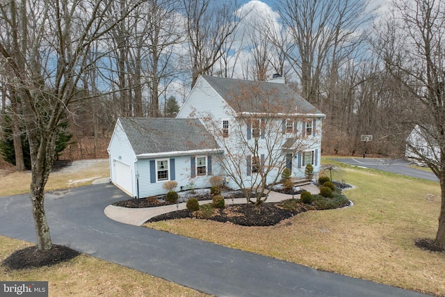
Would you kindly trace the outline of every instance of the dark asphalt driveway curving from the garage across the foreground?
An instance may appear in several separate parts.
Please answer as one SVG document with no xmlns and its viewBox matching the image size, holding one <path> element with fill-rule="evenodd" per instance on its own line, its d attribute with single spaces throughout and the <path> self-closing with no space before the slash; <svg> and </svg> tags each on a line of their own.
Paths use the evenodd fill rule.
<svg viewBox="0 0 445 297">
<path fill-rule="evenodd" d="M 426 296 L 107 218 L 124 198 L 111 184 L 48 194 L 52 240 L 216 296 Z M 35 241 L 28 195 L 0 202 L 0 234 Z"/>
</svg>

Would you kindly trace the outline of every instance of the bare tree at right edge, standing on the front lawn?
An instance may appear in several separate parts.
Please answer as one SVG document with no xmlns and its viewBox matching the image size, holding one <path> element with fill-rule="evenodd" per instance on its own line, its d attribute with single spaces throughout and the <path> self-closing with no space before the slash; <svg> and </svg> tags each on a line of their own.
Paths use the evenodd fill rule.
<svg viewBox="0 0 445 297">
<path fill-rule="evenodd" d="M 418 125 L 426 145 L 439 154 L 427 154 L 407 143 L 439 178 L 442 204 L 435 243 L 445 248 L 445 3 L 435 0 L 396 1 L 393 15 L 382 26 L 376 48 L 389 73 L 408 91 L 403 104 L 414 108 L 402 119 L 410 129 Z M 414 102 L 414 106 L 412 103 Z"/>
</svg>

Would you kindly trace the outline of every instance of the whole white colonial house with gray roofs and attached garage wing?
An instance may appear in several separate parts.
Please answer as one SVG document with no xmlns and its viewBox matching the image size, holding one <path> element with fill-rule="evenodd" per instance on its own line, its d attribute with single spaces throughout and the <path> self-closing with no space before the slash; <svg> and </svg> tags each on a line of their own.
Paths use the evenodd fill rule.
<svg viewBox="0 0 445 297">
<path fill-rule="evenodd" d="M 273 182 L 284 167 L 305 177 L 320 170 L 325 115 L 286 86 L 282 77 L 246 81 L 201 76 L 176 119 L 120 118 L 108 147 L 111 181 L 133 197 L 209 187 L 256 186 L 259 170 Z M 264 171 L 261 171 L 264 172 Z M 280 179 L 278 179 L 280 180 Z"/>
</svg>

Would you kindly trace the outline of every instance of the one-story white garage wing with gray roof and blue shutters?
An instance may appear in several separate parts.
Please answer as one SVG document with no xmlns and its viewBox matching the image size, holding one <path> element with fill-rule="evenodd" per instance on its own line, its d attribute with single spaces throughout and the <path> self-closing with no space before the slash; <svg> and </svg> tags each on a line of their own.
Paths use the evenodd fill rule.
<svg viewBox="0 0 445 297">
<path fill-rule="evenodd" d="M 170 180 L 177 191 L 209 187 L 221 152 L 199 120 L 119 118 L 108 146 L 111 182 L 136 198 L 166 193 Z"/>
</svg>

